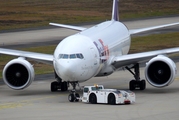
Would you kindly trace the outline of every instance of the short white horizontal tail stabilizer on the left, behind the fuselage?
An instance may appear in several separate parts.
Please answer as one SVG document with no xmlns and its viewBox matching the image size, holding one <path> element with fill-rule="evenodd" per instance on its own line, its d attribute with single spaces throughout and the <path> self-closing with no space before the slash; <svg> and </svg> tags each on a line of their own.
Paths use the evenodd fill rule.
<svg viewBox="0 0 179 120">
<path fill-rule="evenodd" d="M 49 23 L 49 25 L 57 26 L 57 27 L 63 27 L 67 29 L 72 29 L 72 30 L 77 30 L 77 31 L 83 31 L 86 28 L 84 27 L 77 27 L 77 26 L 72 26 L 72 25 L 64 25 L 64 24 L 58 24 L 58 23 Z"/>
</svg>

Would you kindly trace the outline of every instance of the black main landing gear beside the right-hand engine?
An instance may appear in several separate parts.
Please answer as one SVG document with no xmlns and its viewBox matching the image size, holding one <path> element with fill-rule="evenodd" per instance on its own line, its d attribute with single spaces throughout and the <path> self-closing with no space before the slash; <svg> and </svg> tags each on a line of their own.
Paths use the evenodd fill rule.
<svg viewBox="0 0 179 120">
<path fill-rule="evenodd" d="M 146 88 L 145 80 L 140 80 L 140 71 L 139 71 L 139 63 L 135 64 L 133 67 L 125 67 L 130 73 L 134 75 L 135 80 L 131 80 L 129 83 L 130 90 L 135 90 L 136 88 L 140 90 L 144 90 Z M 131 70 L 134 68 L 134 72 Z"/>
</svg>

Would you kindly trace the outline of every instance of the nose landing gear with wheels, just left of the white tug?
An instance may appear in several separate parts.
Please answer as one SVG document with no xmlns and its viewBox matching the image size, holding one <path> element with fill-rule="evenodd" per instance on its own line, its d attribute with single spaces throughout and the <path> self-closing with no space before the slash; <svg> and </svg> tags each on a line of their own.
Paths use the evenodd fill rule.
<svg viewBox="0 0 179 120">
<path fill-rule="evenodd" d="M 68 96 L 68 100 L 70 102 L 78 102 L 80 95 L 78 93 L 76 93 L 76 85 L 79 86 L 79 83 L 78 82 L 70 82 L 70 84 L 72 85 L 73 90 L 71 90 L 71 93 Z"/>
</svg>

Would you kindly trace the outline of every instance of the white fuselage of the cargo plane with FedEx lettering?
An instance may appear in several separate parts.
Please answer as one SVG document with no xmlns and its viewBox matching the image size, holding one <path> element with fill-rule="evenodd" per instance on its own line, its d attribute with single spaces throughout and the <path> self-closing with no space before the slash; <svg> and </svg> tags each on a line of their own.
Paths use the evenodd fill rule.
<svg viewBox="0 0 179 120">
<path fill-rule="evenodd" d="M 130 48 L 127 27 L 107 21 L 63 39 L 54 52 L 54 68 L 63 81 L 83 82 L 94 76 L 111 74 L 115 56 Z"/>
</svg>

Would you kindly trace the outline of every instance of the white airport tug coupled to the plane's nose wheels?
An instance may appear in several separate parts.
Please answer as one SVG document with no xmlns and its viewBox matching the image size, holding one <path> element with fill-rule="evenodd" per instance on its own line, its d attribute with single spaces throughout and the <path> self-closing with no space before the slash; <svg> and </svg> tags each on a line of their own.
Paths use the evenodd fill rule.
<svg viewBox="0 0 179 120">
<path fill-rule="evenodd" d="M 72 93 L 68 100 L 70 102 L 81 100 L 84 103 L 92 104 L 131 104 L 135 102 L 135 93 L 129 90 L 104 89 L 103 85 L 84 86 L 82 97 L 77 93 Z"/>
</svg>

